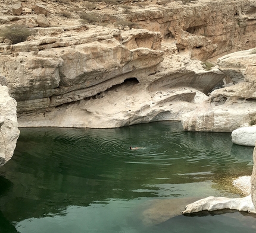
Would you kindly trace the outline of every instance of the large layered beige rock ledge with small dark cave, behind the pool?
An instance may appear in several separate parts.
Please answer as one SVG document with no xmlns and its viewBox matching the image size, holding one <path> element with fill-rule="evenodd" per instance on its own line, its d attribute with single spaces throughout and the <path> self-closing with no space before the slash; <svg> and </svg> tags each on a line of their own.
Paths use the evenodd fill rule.
<svg viewBox="0 0 256 233">
<path fill-rule="evenodd" d="M 0 71 L 18 101 L 20 127 L 180 120 L 224 75 L 161 40 L 148 30 L 80 25 L 40 28 L 30 41 L 2 46 Z"/>
</svg>

